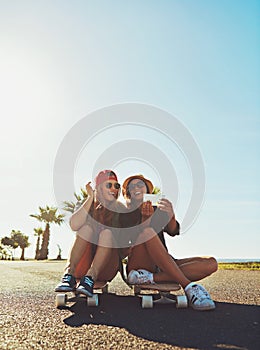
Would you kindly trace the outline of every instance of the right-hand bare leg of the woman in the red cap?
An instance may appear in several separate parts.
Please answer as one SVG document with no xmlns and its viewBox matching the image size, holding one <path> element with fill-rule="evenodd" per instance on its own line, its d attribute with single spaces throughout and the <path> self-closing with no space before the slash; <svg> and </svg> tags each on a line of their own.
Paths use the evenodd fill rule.
<svg viewBox="0 0 260 350">
<path fill-rule="evenodd" d="M 86 273 L 91 276 L 94 281 L 108 281 L 115 277 L 118 266 L 119 257 L 118 250 L 113 247 L 113 235 L 108 229 L 100 232 L 98 247 L 94 256 L 91 267 Z"/>
</svg>

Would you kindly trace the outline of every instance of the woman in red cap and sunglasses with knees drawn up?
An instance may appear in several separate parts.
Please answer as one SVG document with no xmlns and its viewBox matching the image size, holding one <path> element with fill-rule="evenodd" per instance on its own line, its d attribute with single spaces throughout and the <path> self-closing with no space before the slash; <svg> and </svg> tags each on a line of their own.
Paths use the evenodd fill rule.
<svg viewBox="0 0 260 350">
<path fill-rule="evenodd" d="M 125 209 L 117 200 L 120 184 L 112 170 L 100 171 L 95 183 L 95 191 L 87 183 L 88 198 L 70 218 L 70 227 L 77 233 L 56 292 L 77 290 L 92 296 L 97 279 L 110 281 L 118 271 L 118 250 L 113 248 L 111 227 L 119 227 L 119 213 Z"/>
</svg>

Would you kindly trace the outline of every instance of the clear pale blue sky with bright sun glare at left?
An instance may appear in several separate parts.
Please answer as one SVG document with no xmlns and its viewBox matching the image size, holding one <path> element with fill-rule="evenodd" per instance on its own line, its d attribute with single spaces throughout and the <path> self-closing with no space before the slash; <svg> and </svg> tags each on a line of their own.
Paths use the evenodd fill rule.
<svg viewBox="0 0 260 350">
<path fill-rule="evenodd" d="M 54 169 L 66 135 L 82 120 L 91 129 L 98 111 L 133 103 L 159 109 L 162 120 L 170 114 L 169 134 L 178 120 L 203 160 L 203 203 L 189 229 L 167 239 L 172 255 L 260 258 L 259 15 L 253 0 L 0 0 L 0 237 L 21 230 L 30 237 L 26 257 L 34 257 L 41 224 L 29 215 L 60 207 Z M 178 196 L 166 195 L 182 222 L 198 185 L 189 159 L 158 120 L 125 118 L 106 130 L 101 123 L 91 139 L 87 126 L 80 130 L 86 144 L 71 165 L 75 191 L 93 182 L 103 155 L 120 182 L 142 173 L 163 187 L 162 169 L 145 158 L 154 147 L 174 168 L 169 179 L 176 173 Z M 117 160 L 130 140 L 144 142 L 145 152 L 129 149 Z M 66 258 L 74 236 L 67 224 L 52 225 L 49 257 L 59 244 Z"/>
</svg>

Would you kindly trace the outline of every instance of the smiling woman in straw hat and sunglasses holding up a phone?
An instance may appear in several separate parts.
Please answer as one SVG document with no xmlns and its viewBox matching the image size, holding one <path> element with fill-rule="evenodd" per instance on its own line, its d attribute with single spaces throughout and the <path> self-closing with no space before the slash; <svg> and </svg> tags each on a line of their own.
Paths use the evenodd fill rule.
<svg viewBox="0 0 260 350">
<path fill-rule="evenodd" d="M 138 238 L 130 248 L 128 257 L 128 281 L 130 284 L 178 282 L 184 289 L 190 305 L 195 310 L 211 310 L 215 304 L 209 293 L 194 281 L 209 276 L 217 270 L 214 258 L 173 259 L 167 252 L 164 232 L 170 236 L 179 234 L 172 203 L 163 198 L 157 208 L 151 202 L 143 203 L 143 196 L 152 193 L 153 184 L 142 175 L 128 177 L 122 186 L 129 213 L 122 214 L 121 224 L 131 225 L 138 231 Z M 163 229 L 162 226 L 164 226 Z M 135 238 L 134 238 L 135 240 Z"/>
</svg>

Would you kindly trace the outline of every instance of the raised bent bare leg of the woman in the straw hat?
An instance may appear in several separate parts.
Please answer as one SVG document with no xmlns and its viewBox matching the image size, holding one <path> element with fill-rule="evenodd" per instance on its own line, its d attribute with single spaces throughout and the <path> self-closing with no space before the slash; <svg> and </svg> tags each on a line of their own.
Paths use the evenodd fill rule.
<svg viewBox="0 0 260 350">
<path fill-rule="evenodd" d="M 157 265 L 163 272 L 154 274 L 155 282 L 175 281 L 183 288 L 191 282 L 168 254 L 153 229 L 144 229 L 140 234 L 140 240 L 144 243 L 134 246 L 129 256 L 129 271 L 143 268 L 153 272 Z"/>
</svg>

